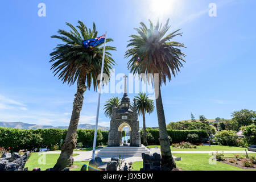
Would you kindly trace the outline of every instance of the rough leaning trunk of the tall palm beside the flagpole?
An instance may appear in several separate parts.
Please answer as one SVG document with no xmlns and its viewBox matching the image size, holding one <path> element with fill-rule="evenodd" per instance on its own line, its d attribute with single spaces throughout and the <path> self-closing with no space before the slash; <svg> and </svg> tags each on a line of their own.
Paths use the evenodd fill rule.
<svg viewBox="0 0 256 182">
<path fill-rule="evenodd" d="M 79 123 L 80 112 L 82 110 L 82 104 L 84 101 L 84 92 L 86 91 L 85 84 L 80 84 L 75 94 L 75 100 L 73 102 L 73 111 L 71 120 L 68 126 L 68 133 L 64 140 L 64 144 L 61 147 L 61 154 L 57 163 L 53 167 L 56 171 L 64 169 L 65 167 L 71 167 L 73 165 L 73 150 L 76 147 L 76 131 Z"/>
</svg>

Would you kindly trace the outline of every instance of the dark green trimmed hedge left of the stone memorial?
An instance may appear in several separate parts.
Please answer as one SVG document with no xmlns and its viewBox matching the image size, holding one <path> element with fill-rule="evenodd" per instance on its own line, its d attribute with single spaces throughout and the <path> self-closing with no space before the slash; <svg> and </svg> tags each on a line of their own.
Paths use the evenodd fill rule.
<svg viewBox="0 0 256 182">
<path fill-rule="evenodd" d="M 11 152 L 21 149 L 33 150 L 34 148 L 60 146 L 60 140 L 65 139 L 67 129 L 36 129 L 21 130 L 0 127 L 0 146 L 11 148 Z M 85 147 L 92 147 L 94 130 L 77 130 L 77 142 Z M 107 144 L 108 131 L 97 131 L 97 145 Z"/>
</svg>

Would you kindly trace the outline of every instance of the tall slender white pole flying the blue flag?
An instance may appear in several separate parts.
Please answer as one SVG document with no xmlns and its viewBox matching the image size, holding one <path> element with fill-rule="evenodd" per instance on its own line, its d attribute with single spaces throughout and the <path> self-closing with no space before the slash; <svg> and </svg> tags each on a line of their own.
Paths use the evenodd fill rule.
<svg viewBox="0 0 256 182">
<path fill-rule="evenodd" d="M 94 159 L 95 148 L 96 148 L 97 129 L 98 129 L 98 113 L 99 113 L 99 109 L 100 109 L 100 100 L 101 100 L 102 77 L 103 77 L 104 60 L 105 60 L 105 48 L 106 48 L 106 33 L 105 33 L 104 49 L 103 49 L 103 56 L 102 56 L 102 63 L 101 63 L 101 80 L 100 80 L 100 90 L 99 90 L 99 93 L 98 93 L 98 106 L 97 106 L 97 115 L 96 115 L 96 123 L 95 123 L 95 130 L 94 130 L 94 138 L 93 138 L 92 159 Z"/>
</svg>

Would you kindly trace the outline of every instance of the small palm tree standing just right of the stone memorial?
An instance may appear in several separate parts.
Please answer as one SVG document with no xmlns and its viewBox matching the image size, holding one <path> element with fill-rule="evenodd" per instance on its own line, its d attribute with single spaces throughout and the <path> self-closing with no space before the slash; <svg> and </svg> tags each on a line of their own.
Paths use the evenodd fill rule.
<svg viewBox="0 0 256 182">
<path fill-rule="evenodd" d="M 136 106 L 138 108 L 138 114 L 143 117 L 143 144 L 147 146 L 145 114 L 152 113 L 155 106 L 154 101 L 149 99 L 146 93 L 139 93 L 138 95 L 135 96 Z"/>
</svg>

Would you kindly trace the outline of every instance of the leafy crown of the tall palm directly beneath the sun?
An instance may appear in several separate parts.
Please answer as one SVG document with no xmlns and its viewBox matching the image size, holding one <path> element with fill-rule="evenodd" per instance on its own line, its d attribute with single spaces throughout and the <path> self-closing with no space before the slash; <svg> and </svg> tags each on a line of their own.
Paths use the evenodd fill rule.
<svg viewBox="0 0 256 182">
<path fill-rule="evenodd" d="M 134 28 L 137 35 L 130 35 L 125 58 L 130 60 L 127 67 L 131 73 L 142 75 L 142 73 L 158 73 L 160 84 L 166 84 L 172 76 L 180 72 L 185 63 L 186 56 L 180 48 L 185 48 L 183 43 L 170 41 L 176 36 L 182 36 L 180 30 L 166 35 L 170 29 L 169 19 L 162 26 L 159 22 L 154 24 L 149 20 L 150 28 L 141 22 L 141 27 Z M 164 36 L 166 35 L 166 36 Z"/>
</svg>

